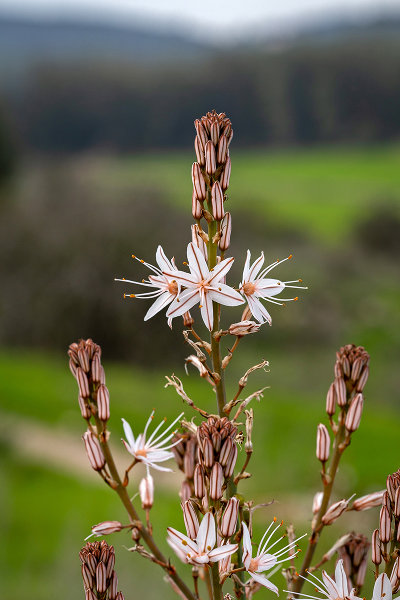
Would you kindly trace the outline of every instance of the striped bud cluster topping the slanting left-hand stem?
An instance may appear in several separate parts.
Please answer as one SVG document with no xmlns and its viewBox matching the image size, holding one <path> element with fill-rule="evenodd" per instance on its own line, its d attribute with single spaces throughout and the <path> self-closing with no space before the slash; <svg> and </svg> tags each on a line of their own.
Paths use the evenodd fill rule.
<svg viewBox="0 0 400 600">
<path fill-rule="evenodd" d="M 70 369 L 79 387 L 79 407 L 89 421 L 97 414 L 103 424 L 110 418 L 110 394 L 106 387 L 104 368 L 101 365 L 101 347 L 90 338 L 74 342 L 68 349 Z"/>
</svg>

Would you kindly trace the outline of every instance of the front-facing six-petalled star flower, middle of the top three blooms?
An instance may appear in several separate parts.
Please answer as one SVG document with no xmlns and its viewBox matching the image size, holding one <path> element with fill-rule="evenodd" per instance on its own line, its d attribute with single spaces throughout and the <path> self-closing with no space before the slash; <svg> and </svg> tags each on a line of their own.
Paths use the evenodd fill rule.
<svg viewBox="0 0 400 600">
<path fill-rule="evenodd" d="M 164 272 L 164 275 L 172 277 L 178 286 L 187 288 L 172 302 L 167 310 L 167 317 L 179 317 L 200 302 L 201 317 L 209 331 L 212 331 L 213 301 L 226 306 L 238 306 L 244 302 L 236 290 L 221 283 L 234 259 L 221 260 L 219 265 L 209 271 L 203 254 L 193 242 L 188 244 L 187 255 L 190 273 L 171 270 Z"/>
</svg>

